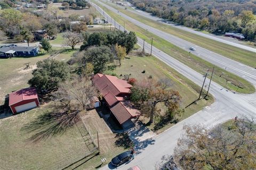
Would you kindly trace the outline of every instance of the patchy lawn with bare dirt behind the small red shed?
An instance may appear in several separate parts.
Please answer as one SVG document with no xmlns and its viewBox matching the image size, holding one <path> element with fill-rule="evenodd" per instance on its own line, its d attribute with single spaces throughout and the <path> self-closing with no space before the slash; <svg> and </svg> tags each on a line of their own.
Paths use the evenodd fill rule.
<svg viewBox="0 0 256 170">
<path fill-rule="evenodd" d="M 68 61 L 76 50 L 66 48 L 53 48 L 52 52 L 63 50 L 56 60 Z M 32 77 L 31 72 L 36 68 L 36 62 L 49 57 L 50 54 L 41 53 L 35 57 L 13 57 L 0 59 L 0 99 L 14 90 L 26 88 L 28 80 Z M 25 69 L 24 63 L 30 63 L 30 69 Z M 0 101 L 1 101 L 0 100 Z"/>
</svg>

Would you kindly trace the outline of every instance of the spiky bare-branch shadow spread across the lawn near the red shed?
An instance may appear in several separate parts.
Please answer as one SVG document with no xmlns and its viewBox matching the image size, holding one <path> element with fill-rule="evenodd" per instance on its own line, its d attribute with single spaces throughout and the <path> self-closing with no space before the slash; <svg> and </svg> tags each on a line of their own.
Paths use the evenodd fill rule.
<svg viewBox="0 0 256 170">
<path fill-rule="evenodd" d="M 67 114 L 66 112 L 56 113 L 46 111 L 44 114 L 38 116 L 36 120 L 25 124 L 21 128 L 21 131 L 33 134 L 28 141 L 39 142 L 54 135 L 63 134 L 67 128 L 79 121 L 78 113 L 73 112 Z"/>
</svg>

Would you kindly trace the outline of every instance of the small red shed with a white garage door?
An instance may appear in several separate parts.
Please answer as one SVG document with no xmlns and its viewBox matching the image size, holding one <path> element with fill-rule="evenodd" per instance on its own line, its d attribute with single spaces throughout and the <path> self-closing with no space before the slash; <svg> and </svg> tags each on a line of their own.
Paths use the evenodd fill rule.
<svg viewBox="0 0 256 170">
<path fill-rule="evenodd" d="M 35 88 L 25 88 L 9 94 L 9 106 L 12 113 L 25 112 L 39 106 Z"/>
</svg>

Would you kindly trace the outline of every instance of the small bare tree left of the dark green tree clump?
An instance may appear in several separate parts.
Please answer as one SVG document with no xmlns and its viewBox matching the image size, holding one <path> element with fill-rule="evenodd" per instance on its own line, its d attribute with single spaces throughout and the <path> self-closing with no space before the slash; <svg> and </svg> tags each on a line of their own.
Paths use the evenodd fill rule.
<svg viewBox="0 0 256 170">
<path fill-rule="evenodd" d="M 62 37 L 66 39 L 65 45 L 72 49 L 75 49 L 75 46 L 83 41 L 81 34 L 70 31 L 64 32 Z"/>
</svg>

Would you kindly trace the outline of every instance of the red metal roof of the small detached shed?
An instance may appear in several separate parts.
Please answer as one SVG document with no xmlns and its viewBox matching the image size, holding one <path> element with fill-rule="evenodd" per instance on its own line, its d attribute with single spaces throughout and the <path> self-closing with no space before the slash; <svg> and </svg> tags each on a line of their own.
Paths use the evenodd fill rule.
<svg viewBox="0 0 256 170">
<path fill-rule="evenodd" d="M 23 100 L 37 99 L 37 92 L 35 88 L 26 88 L 12 92 L 9 94 L 9 106 Z"/>
</svg>

